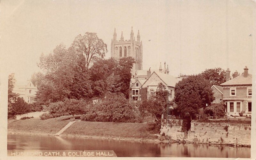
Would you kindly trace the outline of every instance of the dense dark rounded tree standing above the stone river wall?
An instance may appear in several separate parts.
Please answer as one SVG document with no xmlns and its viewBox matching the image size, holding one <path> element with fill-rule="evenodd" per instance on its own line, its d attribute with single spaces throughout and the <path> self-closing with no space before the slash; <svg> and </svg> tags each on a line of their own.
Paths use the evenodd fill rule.
<svg viewBox="0 0 256 160">
<path fill-rule="evenodd" d="M 178 111 L 183 115 L 194 117 L 200 108 L 211 105 L 213 93 L 211 84 L 203 76 L 188 76 L 179 81 L 174 88 L 174 102 Z"/>
</svg>

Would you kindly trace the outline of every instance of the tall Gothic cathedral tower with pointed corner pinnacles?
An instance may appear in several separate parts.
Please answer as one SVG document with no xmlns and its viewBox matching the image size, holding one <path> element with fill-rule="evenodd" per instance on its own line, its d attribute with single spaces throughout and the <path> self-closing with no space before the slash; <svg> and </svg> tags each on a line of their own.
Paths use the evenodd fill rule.
<svg viewBox="0 0 256 160">
<path fill-rule="evenodd" d="M 123 32 L 120 40 L 116 39 L 116 28 L 114 30 L 113 39 L 111 40 L 111 57 L 117 60 L 121 57 L 131 56 L 135 59 L 132 67 L 132 75 L 135 75 L 136 70 L 142 70 L 142 41 L 140 41 L 140 31 L 137 34 L 137 41 L 131 30 L 130 40 L 124 40 Z"/>
</svg>

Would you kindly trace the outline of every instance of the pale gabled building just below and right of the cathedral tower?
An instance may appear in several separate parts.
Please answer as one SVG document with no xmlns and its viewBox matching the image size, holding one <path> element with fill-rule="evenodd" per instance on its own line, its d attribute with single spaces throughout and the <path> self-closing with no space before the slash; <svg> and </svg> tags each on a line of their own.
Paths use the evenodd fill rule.
<svg viewBox="0 0 256 160">
<path fill-rule="evenodd" d="M 178 80 L 172 75 L 155 71 L 150 74 L 148 79 L 141 86 L 142 88 L 147 88 L 147 98 L 151 97 L 152 95 L 156 95 L 156 89 L 160 82 L 165 85 L 166 90 L 169 92 L 168 99 L 173 100 L 174 87 Z"/>
</svg>

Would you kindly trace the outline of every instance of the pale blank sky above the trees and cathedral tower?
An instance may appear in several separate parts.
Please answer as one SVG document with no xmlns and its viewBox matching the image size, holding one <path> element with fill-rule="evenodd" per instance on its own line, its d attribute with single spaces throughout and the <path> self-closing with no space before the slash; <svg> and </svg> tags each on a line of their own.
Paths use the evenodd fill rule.
<svg viewBox="0 0 256 160">
<path fill-rule="evenodd" d="M 2 0 L 1 72 L 15 73 L 17 83 L 40 71 L 42 53 L 74 38 L 96 32 L 108 46 L 114 28 L 117 40 L 131 27 L 143 44 L 143 69 L 169 65 L 171 75 L 198 74 L 205 69 L 230 68 L 252 72 L 255 26 L 253 1 L 145 0 Z"/>
</svg>

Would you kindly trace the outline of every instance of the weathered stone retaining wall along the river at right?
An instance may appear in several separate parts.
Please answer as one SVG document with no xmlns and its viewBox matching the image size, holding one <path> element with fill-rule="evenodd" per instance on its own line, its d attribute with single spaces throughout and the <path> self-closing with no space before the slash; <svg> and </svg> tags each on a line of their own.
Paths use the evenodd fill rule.
<svg viewBox="0 0 256 160">
<path fill-rule="evenodd" d="M 226 123 L 191 122 L 191 130 L 181 132 L 181 125 L 166 124 L 161 134 L 171 136 L 178 143 L 226 144 L 232 146 L 251 146 L 251 125 Z"/>
</svg>

